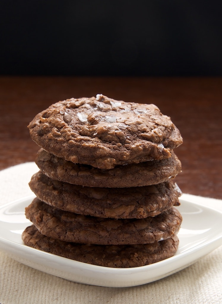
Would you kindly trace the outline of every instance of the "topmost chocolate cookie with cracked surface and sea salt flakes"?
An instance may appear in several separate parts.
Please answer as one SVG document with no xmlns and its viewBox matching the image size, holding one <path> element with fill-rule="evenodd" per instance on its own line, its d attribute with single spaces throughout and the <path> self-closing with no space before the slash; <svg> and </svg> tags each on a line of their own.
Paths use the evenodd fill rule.
<svg viewBox="0 0 222 304">
<path fill-rule="evenodd" d="M 179 130 L 157 106 L 102 94 L 57 102 L 28 127 L 47 152 L 101 169 L 168 158 L 182 143 Z"/>
</svg>

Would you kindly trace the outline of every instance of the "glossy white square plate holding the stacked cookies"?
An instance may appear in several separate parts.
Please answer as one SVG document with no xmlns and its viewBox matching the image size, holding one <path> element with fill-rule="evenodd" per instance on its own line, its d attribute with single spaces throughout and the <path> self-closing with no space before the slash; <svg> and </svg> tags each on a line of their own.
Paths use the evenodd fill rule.
<svg viewBox="0 0 222 304">
<path fill-rule="evenodd" d="M 107 268 L 73 261 L 23 245 L 21 234 L 30 225 L 24 209 L 33 198 L 0 208 L 0 250 L 25 265 L 73 282 L 106 287 L 142 285 L 182 270 L 222 245 L 222 212 L 182 198 L 177 207 L 183 222 L 175 256 L 136 268 Z"/>
</svg>

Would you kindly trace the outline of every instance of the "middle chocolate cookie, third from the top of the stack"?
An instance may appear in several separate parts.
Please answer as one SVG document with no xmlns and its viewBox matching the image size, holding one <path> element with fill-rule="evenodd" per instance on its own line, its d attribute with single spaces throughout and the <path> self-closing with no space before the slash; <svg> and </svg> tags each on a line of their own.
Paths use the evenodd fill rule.
<svg viewBox="0 0 222 304">
<path fill-rule="evenodd" d="M 116 219 L 156 216 L 179 206 L 179 187 L 173 181 L 132 188 L 96 188 L 56 181 L 41 171 L 29 182 L 38 199 L 65 211 Z"/>
</svg>

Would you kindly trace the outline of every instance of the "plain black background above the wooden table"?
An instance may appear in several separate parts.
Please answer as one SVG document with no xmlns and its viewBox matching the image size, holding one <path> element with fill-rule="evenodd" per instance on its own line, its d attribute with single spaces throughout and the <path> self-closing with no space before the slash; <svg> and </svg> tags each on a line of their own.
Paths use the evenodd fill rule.
<svg viewBox="0 0 222 304">
<path fill-rule="evenodd" d="M 1 1 L 1 75 L 221 76 L 221 1 Z"/>
</svg>

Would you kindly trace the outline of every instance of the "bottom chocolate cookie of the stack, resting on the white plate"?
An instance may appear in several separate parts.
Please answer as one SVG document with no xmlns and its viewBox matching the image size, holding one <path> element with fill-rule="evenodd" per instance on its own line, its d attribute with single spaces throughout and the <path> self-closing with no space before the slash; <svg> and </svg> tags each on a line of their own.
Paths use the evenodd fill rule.
<svg viewBox="0 0 222 304">
<path fill-rule="evenodd" d="M 75 244 L 46 237 L 33 225 L 24 230 L 22 239 L 25 245 L 51 254 L 88 264 L 114 268 L 140 267 L 159 262 L 173 256 L 179 244 L 176 236 L 152 244 Z"/>
</svg>

